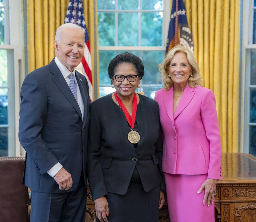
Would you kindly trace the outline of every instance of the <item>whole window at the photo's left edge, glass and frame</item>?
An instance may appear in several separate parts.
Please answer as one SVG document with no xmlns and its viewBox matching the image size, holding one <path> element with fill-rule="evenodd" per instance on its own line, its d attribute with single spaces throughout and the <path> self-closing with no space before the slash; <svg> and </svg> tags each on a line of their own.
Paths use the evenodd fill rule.
<svg viewBox="0 0 256 222">
<path fill-rule="evenodd" d="M 21 3 L 0 0 L 0 156 L 20 156 L 18 142 Z M 15 109 L 16 108 L 16 109 Z"/>
</svg>

